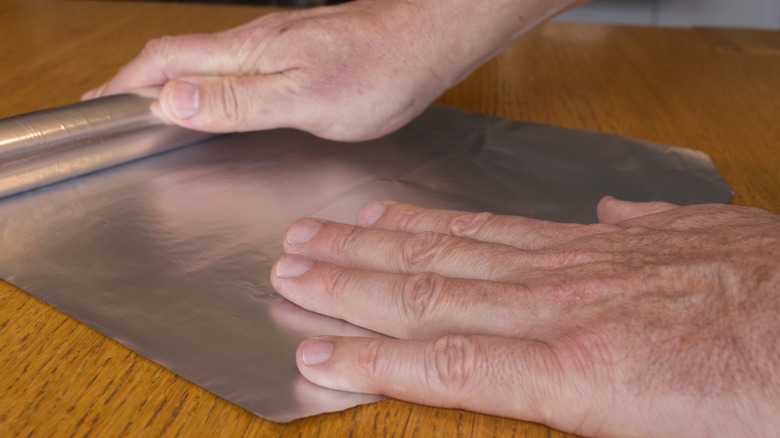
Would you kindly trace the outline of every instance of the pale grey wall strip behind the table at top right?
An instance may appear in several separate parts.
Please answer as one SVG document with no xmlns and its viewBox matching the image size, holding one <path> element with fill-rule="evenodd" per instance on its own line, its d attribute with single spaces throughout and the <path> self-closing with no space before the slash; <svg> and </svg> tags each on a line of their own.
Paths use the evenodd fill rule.
<svg viewBox="0 0 780 438">
<path fill-rule="evenodd" d="M 559 19 L 780 29 L 780 0 L 591 0 Z"/>
</svg>

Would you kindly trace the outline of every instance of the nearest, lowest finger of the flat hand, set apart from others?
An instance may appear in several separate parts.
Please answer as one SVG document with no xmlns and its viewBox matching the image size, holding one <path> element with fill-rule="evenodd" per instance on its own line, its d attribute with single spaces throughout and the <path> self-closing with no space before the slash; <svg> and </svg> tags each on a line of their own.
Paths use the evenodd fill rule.
<svg viewBox="0 0 780 438">
<path fill-rule="evenodd" d="M 593 406 L 598 397 L 591 390 L 600 387 L 588 385 L 592 376 L 537 342 L 461 336 L 430 341 L 326 337 L 302 342 L 296 361 L 304 377 L 327 388 L 580 433 L 593 433 L 590 427 L 605 421 Z M 562 409 L 565 415 L 560 415 Z"/>
</svg>

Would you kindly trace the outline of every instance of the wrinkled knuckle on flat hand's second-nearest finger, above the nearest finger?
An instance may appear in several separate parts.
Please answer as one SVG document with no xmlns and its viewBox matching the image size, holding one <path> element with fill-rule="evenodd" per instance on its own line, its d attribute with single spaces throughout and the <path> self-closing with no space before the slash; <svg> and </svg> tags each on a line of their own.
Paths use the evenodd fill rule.
<svg viewBox="0 0 780 438">
<path fill-rule="evenodd" d="M 445 282 L 444 277 L 430 272 L 406 277 L 401 283 L 401 293 L 398 294 L 402 318 L 418 327 L 424 326 L 424 322 L 434 313 L 433 309 L 441 304 Z"/>
</svg>

